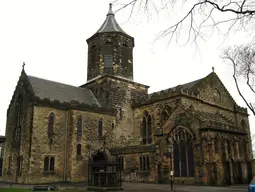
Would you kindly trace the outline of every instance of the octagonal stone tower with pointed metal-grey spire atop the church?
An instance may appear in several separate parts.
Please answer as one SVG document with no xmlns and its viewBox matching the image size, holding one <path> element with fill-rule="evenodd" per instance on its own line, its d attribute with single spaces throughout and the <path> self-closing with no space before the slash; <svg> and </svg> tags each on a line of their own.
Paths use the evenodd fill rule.
<svg viewBox="0 0 255 192">
<path fill-rule="evenodd" d="M 112 4 L 99 30 L 89 39 L 87 81 L 103 75 L 133 80 L 134 38 L 125 33 L 112 11 Z"/>
</svg>

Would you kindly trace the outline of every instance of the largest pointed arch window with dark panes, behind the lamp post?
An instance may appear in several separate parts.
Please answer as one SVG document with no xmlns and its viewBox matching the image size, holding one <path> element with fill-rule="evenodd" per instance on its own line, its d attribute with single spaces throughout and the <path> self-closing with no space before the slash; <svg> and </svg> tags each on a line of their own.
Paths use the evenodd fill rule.
<svg viewBox="0 0 255 192">
<path fill-rule="evenodd" d="M 194 155 L 192 135 L 184 128 L 177 128 L 174 134 L 175 177 L 194 177 Z"/>
</svg>

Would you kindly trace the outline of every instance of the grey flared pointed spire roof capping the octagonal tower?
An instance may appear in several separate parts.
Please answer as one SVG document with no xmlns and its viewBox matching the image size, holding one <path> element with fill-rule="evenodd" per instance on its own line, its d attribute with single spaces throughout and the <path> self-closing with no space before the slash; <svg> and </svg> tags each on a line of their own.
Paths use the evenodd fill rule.
<svg viewBox="0 0 255 192">
<path fill-rule="evenodd" d="M 109 6 L 109 11 L 106 15 L 106 19 L 103 23 L 103 25 L 99 28 L 97 33 L 104 33 L 104 32 L 122 32 L 125 33 L 119 24 L 117 23 L 114 13 L 112 11 L 112 4 Z M 126 33 L 125 33 L 126 34 Z"/>
</svg>

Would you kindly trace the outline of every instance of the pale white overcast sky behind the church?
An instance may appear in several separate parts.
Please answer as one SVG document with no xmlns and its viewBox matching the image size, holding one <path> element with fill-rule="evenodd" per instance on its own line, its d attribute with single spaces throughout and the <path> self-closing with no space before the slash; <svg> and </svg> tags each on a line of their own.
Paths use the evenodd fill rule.
<svg viewBox="0 0 255 192">
<path fill-rule="evenodd" d="M 25 62 L 29 75 L 79 86 L 87 80 L 87 43 L 102 25 L 110 1 L 8 0 L 0 1 L 0 135 L 5 134 L 6 112 Z M 113 10 L 117 5 L 113 5 Z M 250 41 L 245 32 L 227 39 L 217 33 L 198 45 L 181 44 L 168 37 L 154 41 L 182 11 L 153 15 L 128 11 L 115 14 L 122 29 L 135 38 L 134 81 L 149 85 L 149 92 L 203 78 L 212 67 L 234 100 L 246 107 L 235 88 L 232 68 L 221 59 L 222 50 Z M 183 37 L 187 34 L 184 33 Z M 242 90 L 248 98 L 252 94 Z M 250 113 L 250 112 L 249 112 Z M 251 113 L 250 113 L 251 114 Z M 250 127 L 255 133 L 255 118 Z"/>
</svg>

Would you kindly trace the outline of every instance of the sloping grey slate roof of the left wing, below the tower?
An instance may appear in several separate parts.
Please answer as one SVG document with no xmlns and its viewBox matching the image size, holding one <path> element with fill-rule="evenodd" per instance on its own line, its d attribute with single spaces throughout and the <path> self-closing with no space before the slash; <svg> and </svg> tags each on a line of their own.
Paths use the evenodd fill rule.
<svg viewBox="0 0 255 192">
<path fill-rule="evenodd" d="M 59 100 L 60 102 L 78 101 L 87 105 L 101 105 L 91 90 L 87 88 L 75 87 L 63 83 L 58 83 L 38 77 L 28 75 L 28 80 L 33 91 L 40 99 Z"/>
</svg>

